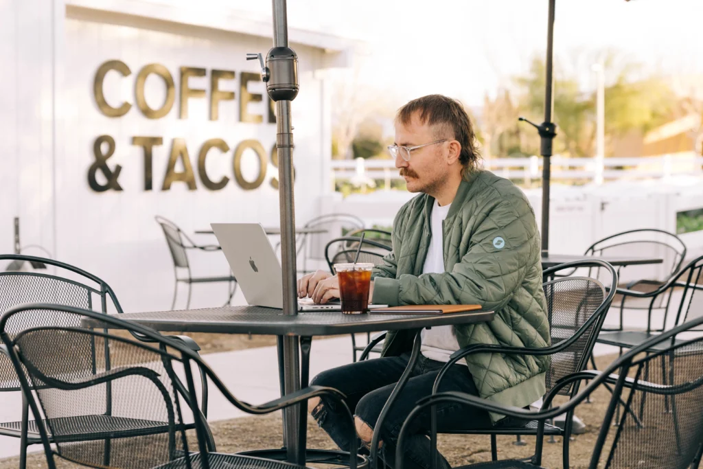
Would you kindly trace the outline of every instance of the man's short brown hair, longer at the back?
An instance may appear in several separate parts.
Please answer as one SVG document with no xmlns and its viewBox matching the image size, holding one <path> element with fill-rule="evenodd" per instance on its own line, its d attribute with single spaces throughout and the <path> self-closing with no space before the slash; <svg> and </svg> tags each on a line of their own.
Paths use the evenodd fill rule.
<svg viewBox="0 0 703 469">
<path fill-rule="evenodd" d="M 481 154 L 477 148 L 474 127 L 459 101 L 441 94 L 413 99 L 398 110 L 396 122 L 407 125 L 415 113 L 418 113 L 420 122 L 434 127 L 438 140 L 453 139 L 460 143 L 459 162 L 464 167 L 464 175 L 476 169 Z"/>
</svg>

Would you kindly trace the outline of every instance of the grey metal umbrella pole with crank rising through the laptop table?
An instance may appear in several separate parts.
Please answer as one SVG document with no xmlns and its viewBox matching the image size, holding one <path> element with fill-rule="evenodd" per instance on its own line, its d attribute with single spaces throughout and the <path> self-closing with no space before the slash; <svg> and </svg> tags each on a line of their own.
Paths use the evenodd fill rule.
<svg viewBox="0 0 703 469">
<path fill-rule="evenodd" d="M 280 205 L 281 267 L 283 268 L 283 314 L 298 314 L 295 263 L 295 201 L 293 198 L 293 134 L 290 122 L 290 102 L 298 94 L 298 59 L 288 47 L 288 14 L 285 0 L 273 0 L 273 48 L 266 54 L 247 54 L 247 60 L 259 60 L 266 91 L 276 102 L 276 147 L 278 148 L 278 194 Z M 282 342 L 282 343 L 281 343 Z M 279 338 L 283 347 L 283 388 L 290 394 L 300 388 L 298 338 Z M 294 439 L 302 424 L 302 404 L 284 409 L 284 441 L 288 461 L 304 465 L 302 439 Z M 304 423 L 303 423 L 304 424 Z"/>
</svg>

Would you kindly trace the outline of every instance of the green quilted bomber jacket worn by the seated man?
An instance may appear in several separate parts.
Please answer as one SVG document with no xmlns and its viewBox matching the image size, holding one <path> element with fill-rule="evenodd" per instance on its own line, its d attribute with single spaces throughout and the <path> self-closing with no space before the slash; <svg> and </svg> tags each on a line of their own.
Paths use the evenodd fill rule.
<svg viewBox="0 0 703 469">
<path fill-rule="evenodd" d="M 444 274 L 423 274 L 434 198 L 420 194 L 393 221 L 393 250 L 373 269 L 373 302 L 480 304 L 493 321 L 454 326 L 461 347 L 550 345 L 542 289 L 541 242 L 532 207 L 507 179 L 488 171 L 459 186 L 441 235 Z M 411 349 L 413 331 L 390 331 L 382 356 Z M 524 407 L 545 393 L 546 356 L 472 354 L 466 358 L 480 397 Z M 496 421 L 502 416 L 491 414 Z"/>
</svg>

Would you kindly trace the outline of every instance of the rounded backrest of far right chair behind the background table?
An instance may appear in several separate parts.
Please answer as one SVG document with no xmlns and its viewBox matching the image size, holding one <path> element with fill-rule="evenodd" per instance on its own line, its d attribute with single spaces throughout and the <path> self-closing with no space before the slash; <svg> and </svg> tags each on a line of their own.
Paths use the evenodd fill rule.
<svg viewBox="0 0 703 469">
<path fill-rule="evenodd" d="M 647 278 L 647 280 L 666 281 L 681 269 L 681 264 L 686 256 L 686 245 L 681 238 L 669 233 L 669 231 L 636 229 L 623 231 L 596 241 L 586 250 L 586 255 L 660 257 L 664 259 L 662 264 L 632 266 L 631 269 L 638 269 L 638 271 L 644 272 L 645 276 L 640 275 L 639 278 L 631 280 Z M 621 281 L 626 280 L 623 272 L 625 269 L 627 268 L 619 269 Z M 594 276 L 593 272 L 589 275 Z M 599 278 L 598 274 L 595 274 L 595 277 Z"/>
</svg>

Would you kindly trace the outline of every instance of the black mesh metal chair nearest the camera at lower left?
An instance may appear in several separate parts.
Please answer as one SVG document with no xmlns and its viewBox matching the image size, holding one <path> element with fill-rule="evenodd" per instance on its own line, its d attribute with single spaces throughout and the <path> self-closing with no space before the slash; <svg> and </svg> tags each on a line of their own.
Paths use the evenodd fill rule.
<svg viewBox="0 0 703 469">
<path fill-rule="evenodd" d="M 17 335 L 8 335 L 6 331 L 11 323 L 22 322 L 25 314 L 37 311 L 55 311 L 70 317 L 70 322 L 75 324 L 97 320 L 104 323 L 106 329 L 35 325 Z M 133 335 L 147 338 L 153 345 L 107 332 L 115 328 L 127 329 Z M 193 378 L 198 371 L 207 376 L 233 406 L 247 413 L 271 413 L 298 403 L 304 408 L 307 399 L 327 395 L 347 409 L 352 421 L 344 395 L 328 387 L 307 387 L 259 406 L 240 401 L 200 356 L 181 342 L 115 316 L 53 304 L 25 304 L 3 314 L 0 337 L 15 369 L 26 370 L 26 375 L 20 372 L 20 385 L 27 394 L 32 413 L 37 419 L 42 413 L 47 417 L 47 420 L 39 420 L 38 430 L 49 469 L 55 469 L 61 460 L 92 468 L 302 468 L 282 461 L 217 453 L 205 416 L 198 411 L 198 392 Z M 57 353 L 47 354 L 48 345 Z M 84 350 L 94 354 L 92 361 L 86 361 Z M 36 390 L 36 398 L 32 390 Z M 84 418 L 69 425 L 63 421 L 65 409 L 72 409 Z M 102 420 L 108 416 L 136 420 L 141 424 L 140 431 L 105 427 Z M 189 421 L 193 421 L 193 425 L 188 425 Z M 195 441 L 186 437 L 188 427 L 195 428 Z M 356 432 L 353 438 L 356 439 Z M 347 455 L 349 467 L 356 469 L 357 455 Z"/>
</svg>

